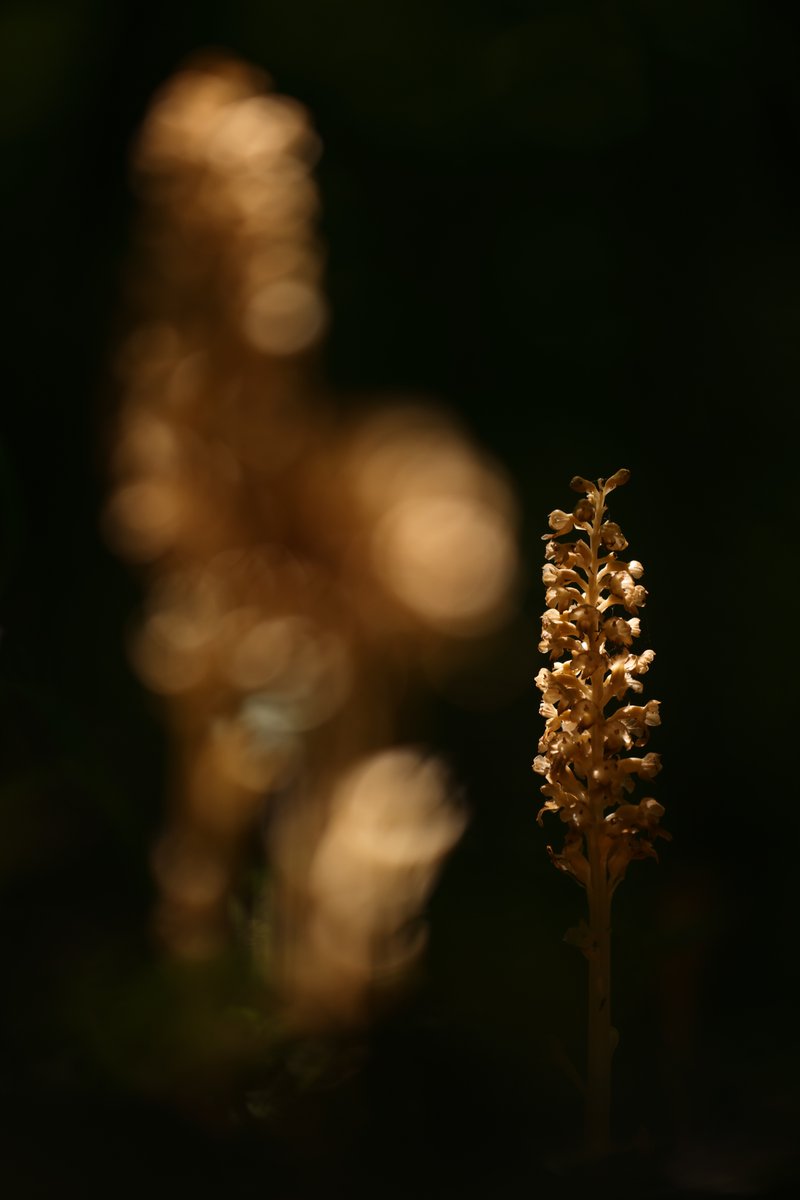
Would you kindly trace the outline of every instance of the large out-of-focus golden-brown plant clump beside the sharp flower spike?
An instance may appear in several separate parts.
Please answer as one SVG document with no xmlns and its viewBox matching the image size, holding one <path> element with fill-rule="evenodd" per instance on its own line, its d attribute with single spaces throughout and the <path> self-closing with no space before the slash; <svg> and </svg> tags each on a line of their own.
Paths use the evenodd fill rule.
<svg viewBox="0 0 800 1200">
<path fill-rule="evenodd" d="M 363 1019 L 419 956 L 464 815 L 441 764 L 396 745 L 408 665 L 495 629 L 517 570 L 509 487 L 449 420 L 333 418 L 318 150 L 233 60 L 156 97 L 106 515 L 146 580 L 131 656 L 172 740 L 158 935 L 218 954 L 266 827 L 253 950 L 301 1028 Z"/>
</svg>

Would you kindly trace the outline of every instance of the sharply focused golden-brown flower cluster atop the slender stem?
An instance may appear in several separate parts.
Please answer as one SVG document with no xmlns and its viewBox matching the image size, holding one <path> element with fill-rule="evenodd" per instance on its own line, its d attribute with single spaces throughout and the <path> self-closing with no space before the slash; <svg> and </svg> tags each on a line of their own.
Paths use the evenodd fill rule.
<svg viewBox="0 0 800 1200">
<path fill-rule="evenodd" d="M 651 780 L 661 769 L 657 754 L 642 752 L 661 718 L 657 700 L 626 703 L 628 692 L 642 692 L 642 676 L 655 656 L 633 649 L 646 596 L 642 564 L 619 558 L 627 541 L 615 522 L 604 520 L 606 497 L 628 478 L 624 469 L 596 484 L 576 476 L 571 487 L 583 499 L 572 512 L 551 512 L 539 649 L 552 665 L 536 677 L 547 721 L 534 760 L 534 770 L 545 776 L 539 821 L 543 812 L 558 812 L 566 826 L 563 851 L 548 846 L 548 853 L 587 887 L 594 840 L 609 892 L 631 859 L 656 857 L 654 840 L 669 836 L 658 828 L 663 809 L 657 800 L 630 799 L 636 776 Z"/>
</svg>

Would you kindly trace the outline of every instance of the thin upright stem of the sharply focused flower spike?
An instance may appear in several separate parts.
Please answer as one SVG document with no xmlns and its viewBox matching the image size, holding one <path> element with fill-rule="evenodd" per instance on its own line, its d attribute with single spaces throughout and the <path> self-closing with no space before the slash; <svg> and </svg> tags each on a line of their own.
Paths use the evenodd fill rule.
<svg viewBox="0 0 800 1200">
<path fill-rule="evenodd" d="M 600 527 L 604 510 L 606 490 L 597 498 L 591 529 L 591 566 L 589 574 L 589 604 L 595 606 L 600 598 L 597 580 L 600 570 Z M 597 622 L 599 626 L 599 622 Z M 589 632 L 589 649 L 599 649 L 600 630 Z M 610 893 L 606 862 L 599 832 L 603 821 L 602 792 L 596 782 L 596 769 L 603 762 L 603 668 L 597 667 L 591 677 L 594 724 L 591 726 L 591 774 L 589 778 L 589 804 L 591 822 L 587 830 L 587 857 L 589 859 L 589 1021 L 587 1045 L 587 1146 L 593 1156 L 608 1153 L 610 1140 Z"/>
</svg>

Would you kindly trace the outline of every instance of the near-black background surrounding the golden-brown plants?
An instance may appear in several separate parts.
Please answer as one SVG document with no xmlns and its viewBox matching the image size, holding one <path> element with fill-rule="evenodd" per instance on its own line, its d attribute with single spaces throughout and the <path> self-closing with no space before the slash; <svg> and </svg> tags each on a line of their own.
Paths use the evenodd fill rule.
<svg viewBox="0 0 800 1200">
<path fill-rule="evenodd" d="M 130 142 L 209 46 L 313 114 L 327 379 L 439 397 L 509 472 L 530 629 L 489 660 L 482 710 L 422 703 L 475 816 L 416 991 L 372 1033 L 254 1052 L 233 1088 L 187 1028 L 252 1015 L 247 982 L 181 973 L 149 940 L 164 738 L 122 647 L 139 586 L 98 532 Z M 674 841 L 616 901 L 615 1121 L 639 1150 L 613 1182 L 780 1194 L 800 1117 L 794 6 L 20 0 L 0 64 L 11 1200 L 569 1190 L 581 1106 L 553 1044 L 579 1061 L 561 936 L 582 898 L 535 822 L 540 534 L 575 473 L 620 466 Z"/>
</svg>

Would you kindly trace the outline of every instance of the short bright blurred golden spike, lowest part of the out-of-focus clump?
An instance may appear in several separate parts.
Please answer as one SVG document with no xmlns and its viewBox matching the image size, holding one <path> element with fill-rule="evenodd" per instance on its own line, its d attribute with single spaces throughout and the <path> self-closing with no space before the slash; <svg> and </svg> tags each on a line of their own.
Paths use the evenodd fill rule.
<svg viewBox="0 0 800 1200">
<path fill-rule="evenodd" d="M 464 815 L 440 763 L 389 750 L 337 784 L 284 971 L 303 1016 L 363 1015 L 426 942 L 419 917 Z"/>
</svg>

